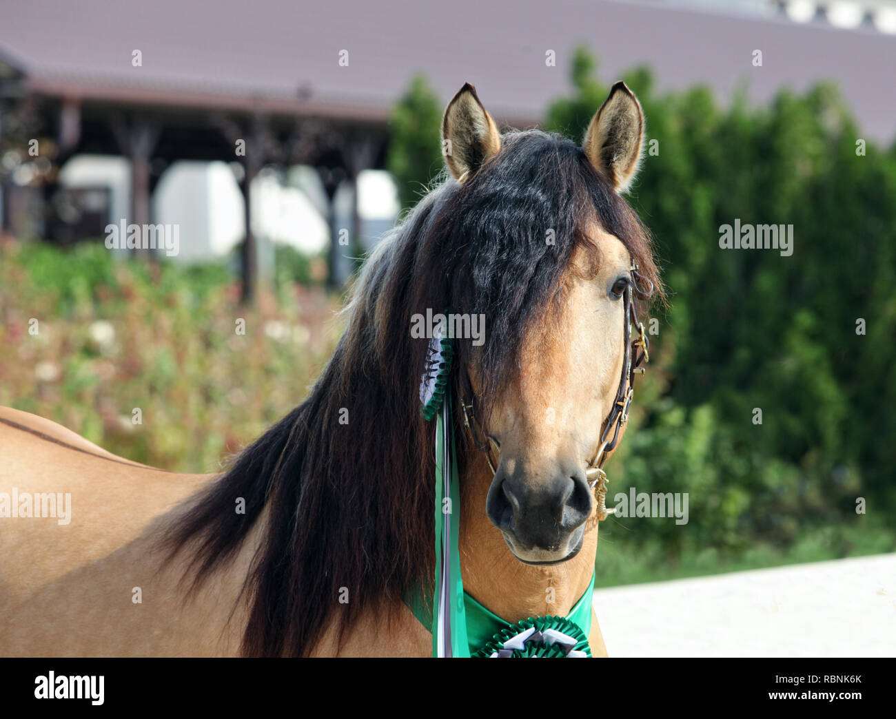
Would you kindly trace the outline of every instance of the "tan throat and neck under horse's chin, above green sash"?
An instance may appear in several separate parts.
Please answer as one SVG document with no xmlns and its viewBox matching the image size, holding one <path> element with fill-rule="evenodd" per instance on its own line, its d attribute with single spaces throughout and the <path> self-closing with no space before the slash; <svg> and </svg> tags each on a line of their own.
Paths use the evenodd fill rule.
<svg viewBox="0 0 896 719">
<path fill-rule="evenodd" d="M 464 589 L 506 621 L 541 614 L 565 615 L 588 589 L 598 546 L 595 526 L 572 560 L 547 567 L 523 564 L 486 516 L 491 473 L 483 458 L 464 477 L 461 573 Z"/>
</svg>

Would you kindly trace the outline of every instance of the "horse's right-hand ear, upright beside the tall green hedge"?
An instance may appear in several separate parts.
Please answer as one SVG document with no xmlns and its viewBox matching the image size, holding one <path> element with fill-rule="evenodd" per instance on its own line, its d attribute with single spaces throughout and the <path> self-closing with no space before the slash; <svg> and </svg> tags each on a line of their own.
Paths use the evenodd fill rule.
<svg viewBox="0 0 896 719">
<path fill-rule="evenodd" d="M 591 164 L 622 193 L 638 172 L 644 135 L 641 103 L 618 81 L 591 118 L 582 150 Z"/>
</svg>

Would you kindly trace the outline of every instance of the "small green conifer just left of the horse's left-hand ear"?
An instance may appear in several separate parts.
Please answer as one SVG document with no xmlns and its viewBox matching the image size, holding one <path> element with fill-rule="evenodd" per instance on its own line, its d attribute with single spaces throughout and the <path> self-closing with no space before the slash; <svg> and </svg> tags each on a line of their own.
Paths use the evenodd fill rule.
<svg viewBox="0 0 896 719">
<path fill-rule="evenodd" d="M 398 185 L 401 207 L 412 207 L 442 169 L 439 137 L 442 105 L 429 83 L 417 75 L 392 109 L 392 141 L 386 167 Z"/>
</svg>

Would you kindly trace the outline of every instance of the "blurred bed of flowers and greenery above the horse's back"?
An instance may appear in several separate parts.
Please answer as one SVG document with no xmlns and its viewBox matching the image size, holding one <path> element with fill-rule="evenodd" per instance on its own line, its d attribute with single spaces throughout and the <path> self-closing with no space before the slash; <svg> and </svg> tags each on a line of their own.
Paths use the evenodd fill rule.
<svg viewBox="0 0 896 719">
<path fill-rule="evenodd" d="M 246 308 L 224 265 L 121 259 L 99 242 L 4 244 L 0 405 L 131 460 L 217 471 L 306 396 L 338 339 L 338 300 L 281 280 L 280 302 Z"/>
</svg>

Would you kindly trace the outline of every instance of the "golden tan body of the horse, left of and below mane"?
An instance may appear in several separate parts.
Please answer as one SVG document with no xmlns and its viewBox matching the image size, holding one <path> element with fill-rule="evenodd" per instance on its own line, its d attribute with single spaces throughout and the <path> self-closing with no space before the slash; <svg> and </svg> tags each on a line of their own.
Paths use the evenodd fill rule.
<svg viewBox="0 0 896 719">
<path fill-rule="evenodd" d="M 193 594 L 191 554 L 172 558 L 159 541 L 213 478 L 138 465 L 0 407 L 0 656 L 237 655 L 241 598 L 267 519 Z M 13 494 L 18 517 L 2 514 Z M 54 509 L 49 495 L 56 517 L 22 516 L 26 497 L 25 514 Z M 397 610 L 389 631 L 365 616 L 342 641 L 331 621 L 314 655 L 428 655 L 429 633 Z"/>
</svg>

